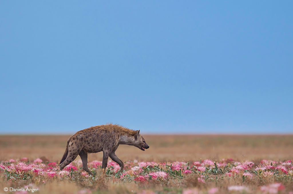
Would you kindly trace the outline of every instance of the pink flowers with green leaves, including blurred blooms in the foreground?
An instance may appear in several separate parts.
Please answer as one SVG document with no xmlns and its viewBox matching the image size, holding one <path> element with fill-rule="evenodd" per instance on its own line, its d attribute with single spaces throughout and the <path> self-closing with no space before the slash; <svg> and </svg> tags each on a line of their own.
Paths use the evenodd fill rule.
<svg viewBox="0 0 293 194">
<path fill-rule="evenodd" d="M 47 179 L 66 179 L 66 178 L 80 178 L 85 180 L 90 175 L 82 170 L 82 162 L 75 161 L 67 165 L 63 171 L 59 171 L 59 166 L 56 162 L 43 162 L 37 158 L 28 162 L 27 158 L 20 160 L 10 159 L 8 161 L 0 161 L 0 171 L 4 171 L 4 176 L 7 179 L 25 179 L 27 177 L 39 177 L 43 178 L 42 182 L 45 183 Z M 260 163 L 255 164 L 251 161 L 234 161 L 232 159 L 226 159 L 222 161 L 212 161 L 205 159 L 203 161 L 195 161 L 193 163 L 185 162 L 168 162 L 168 163 L 156 163 L 156 162 L 125 162 L 124 171 L 120 174 L 120 166 L 111 160 L 108 161 L 107 177 L 111 178 L 115 176 L 122 181 L 135 181 L 139 184 L 149 182 L 161 182 L 170 181 L 172 178 L 184 178 L 189 176 L 188 174 L 195 174 L 199 184 L 206 184 L 211 180 L 211 174 L 215 175 L 221 171 L 222 178 L 235 178 L 243 177 L 243 181 L 246 179 L 267 179 L 273 181 L 274 177 L 279 181 L 280 178 L 292 178 L 293 176 L 293 162 L 291 160 L 284 162 L 275 162 L 270 160 L 262 160 Z M 216 165 L 215 165 L 216 164 Z M 99 169 L 101 168 L 101 161 L 92 161 L 88 163 L 88 167 Z M 216 172 L 217 170 L 217 172 Z M 73 171 L 73 172 L 72 172 Z M 119 172 L 119 173 L 118 173 Z M 14 176 L 14 177 L 13 177 Z M 218 174 L 219 176 L 219 174 Z M 292 180 L 292 179 L 290 179 Z M 259 192 L 263 194 L 278 193 L 283 190 L 284 186 L 281 183 L 274 183 L 267 186 L 259 187 Z M 218 192 L 218 188 L 212 188 L 207 191 L 209 194 Z M 229 186 L 228 191 L 231 192 L 250 192 L 245 186 Z M 199 193 L 197 189 L 183 190 L 183 193 Z"/>
</svg>

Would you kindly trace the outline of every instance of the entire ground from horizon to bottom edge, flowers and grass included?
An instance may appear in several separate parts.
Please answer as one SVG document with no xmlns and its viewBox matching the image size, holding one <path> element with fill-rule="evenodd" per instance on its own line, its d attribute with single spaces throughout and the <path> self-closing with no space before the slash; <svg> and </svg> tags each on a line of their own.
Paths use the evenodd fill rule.
<svg viewBox="0 0 293 194">
<path fill-rule="evenodd" d="M 122 173 L 110 161 L 103 172 L 102 152 L 89 154 L 93 176 L 79 156 L 59 172 L 70 136 L 0 135 L 0 193 L 293 194 L 293 135 L 143 135 L 145 151 L 118 147 Z"/>
</svg>

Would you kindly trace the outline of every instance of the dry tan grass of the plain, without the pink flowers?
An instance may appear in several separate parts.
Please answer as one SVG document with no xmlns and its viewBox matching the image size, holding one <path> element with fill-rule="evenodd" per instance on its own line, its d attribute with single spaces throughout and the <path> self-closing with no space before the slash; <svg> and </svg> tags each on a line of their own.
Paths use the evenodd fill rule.
<svg viewBox="0 0 293 194">
<path fill-rule="evenodd" d="M 150 180 L 148 182 L 135 181 L 135 179 L 121 180 L 120 176 L 103 175 L 101 170 L 96 170 L 95 178 L 84 178 L 81 172 L 67 178 L 46 178 L 45 176 L 32 176 L 30 179 L 23 178 L 9 179 L 7 174 L 0 170 L 0 193 L 4 187 L 23 187 L 32 183 L 38 186 L 37 193 L 211 193 L 211 188 L 217 188 L 215 193 L 237 193 L 229 191 L 229 186 L 245 186 L 247 190 L 240 193 L 266 193 L 260 188 L 272 183 L 282 183 L 285 189 L 277 190 L 277 193 L 293 192 L 292 164 L 287 166 L 287 172 L 280 169 L 271 169 L 268 173 L 253 175 L 253 178 L 243 179 L 243 173 L 247 170 L 239 170 L 239 173 L 232 173 L 237 164 L 228 164 L 223 173 L 213 173 L 208 169 L 215 169 L 206 165 L 206 171 L 200 172 L 193 166 L 196 161 L 202 162 L 205 159 L 213 162 L 222 162 L 222 159 L 233 159 L 234 161 L 252 161 L 255 163 L 247 172 L 254 172 L 253 169 L 260 165 L 260 161 L 272 160 L 279 164 L 287 160 L 293 160 L 293 135 L 143 135 L 150 148 L 146 151 L 136 147 L 120 145 L 116 151 L 117 156 L 123 161 L 138 162 L 190 162 L 191 174 L 180 175 L 179 171 L 162 165 L 161 169 L 151 168 L 150 171 L 144 168 L 145 174 L 151 171 L 166 170 L 169 172 L 165 180 Z M 44 164 L 56 162 L 59 164 L 64 154 L 66 143 L 70 135 L 1 135 L 0 136 L 0 163 L 9 159 L 19 160 L 27 157 L 30 162 L 41 158 Z M 79 160 L 78 156 L 76 160 Z M 102 160 L 102 153 L 89 154 L 88 162 Z M 4 162 L 3 165 L 11 165 Z M 29 163 L 28 163 L 29 164 Z M 244 163 L 243 163 L 244 164 Z M 131 164 L 134 165 L 135 164 Z M 137 165 L 137 164 L 136 164 Z M 202 163 L 202 165 L 204 165 Z M 265 164 L 262 164 L 263 166 Z M 193 167 L 192 167 L 193 166 Z M 0 166 L 1 167 L 1 166 Z M 183 166 L 184 167 L 184 166 Z M 181 168 L 183 169 L 181 166 Z M 274 168 L 275 168 L 274 167 Z M 286 166 L 285 166 L 286 167 Z M 186 166 L 185 166 L 186 168 Z M 189 168 L 189 167 L 188 167 Z M 187 169 L 188 169 L 187 168 Z M 80 169 L 79 169 L 80 170 Z M 125 169 L 125 172 L 129 169 Z M 171 171 L 170 171 L 171 170 Z M 147 172 L 148 171 L 148 172 Z M 274 175 L 269 175 L 271 172 Z M 171 176 L 172 173 L 175 173 Z M 177 174 L 176 174 L 177 173 Z M 275 174 L 276 173 L 276 174 Z M 268 175 L 267 175 L 268 174 Z M 18 176 L 18 175 L 16 175 Z M 23 176 L 23 175 L 22 175 Z M 145 175 L 144 175 L 145 176 Z M 205 177 L 204 177 L 205 176 Z M 118 177 L 118 178 L 117 178 Z M 134 176 L 133 176 L 134 177 Z M 136 176 L 137 177 L 137 176 Z M 201 178 L 205 179 L 202 183 Z M 9 179 L 9 180 L 8 180 Z M 42 182 L 43 181 L 43 182 Z M 9 193 L 5 192 L 5 193 Z M 10 192 L 14 193 L 14 192 Z M 268 192 L 267 192 L 268 193 Z M 292 194 L 292 193 L 290 193 Z"/>
</svg>

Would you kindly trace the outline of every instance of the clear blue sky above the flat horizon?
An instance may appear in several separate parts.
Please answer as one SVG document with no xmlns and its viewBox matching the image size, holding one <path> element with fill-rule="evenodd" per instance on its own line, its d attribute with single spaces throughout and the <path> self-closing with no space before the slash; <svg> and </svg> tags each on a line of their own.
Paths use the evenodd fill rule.
<svg viewBox="0 0 293 194">
<path fill-rule="evenodd" d="M 1 1 L 0 133 L 292 133 L 292 1 Z"/>
</svg>

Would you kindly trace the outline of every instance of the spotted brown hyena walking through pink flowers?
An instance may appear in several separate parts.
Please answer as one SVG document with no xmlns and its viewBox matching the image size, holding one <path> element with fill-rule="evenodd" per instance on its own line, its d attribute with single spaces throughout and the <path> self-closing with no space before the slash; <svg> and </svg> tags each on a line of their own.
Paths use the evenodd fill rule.
<svg viewBox="0 0 293 194">
<path fill-rule="evenodd" d="M 119 164 L 120 171 L 122 172 L 124 163 L 115 154 L 120 144 L 133 145 L 141 150 L 149 148 L 149 145 L 139 134 L 139 130 L 133 131 L 113 124 L 87 128 L 78 131 L 67 141 L 66 150 L 59 165 L 60 171 L 79 155 L 82 161 L 82 168 L 92 175 L 88 169 L 88 153 L 103 151 L 102 168 L 106 169 L 108 157 L 110 157 Z"/>
</svg>

